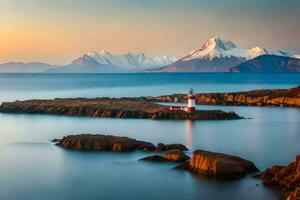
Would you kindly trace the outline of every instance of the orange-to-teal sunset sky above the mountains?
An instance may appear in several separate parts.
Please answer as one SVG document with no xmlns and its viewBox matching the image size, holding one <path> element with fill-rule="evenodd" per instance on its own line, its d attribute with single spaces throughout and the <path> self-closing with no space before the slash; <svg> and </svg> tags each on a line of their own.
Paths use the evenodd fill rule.
<svg viewBox="0 0 300 200">
<path fill-rule="evenodd" d="M 0 63 L 102 49 L 182 57 L 210 37 L 300 53 L 300 0 L 0 0 Z"/>
</svg>

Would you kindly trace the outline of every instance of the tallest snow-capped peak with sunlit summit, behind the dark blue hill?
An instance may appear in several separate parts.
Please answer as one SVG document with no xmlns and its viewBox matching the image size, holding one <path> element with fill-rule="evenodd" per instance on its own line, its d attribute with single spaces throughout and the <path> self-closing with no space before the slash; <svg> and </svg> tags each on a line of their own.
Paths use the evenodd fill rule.
<svg viewBox="0 0 300 200">
<path fill-rule="evenodd" d="M 231 67 L 264 54 L 288 56 L 280 50 L 271 52 L 261 47 L 240 48 L 218 37 L 208 39 L 199 49 L 163 67 L 164 72 L 229 72 Z"/>
</svg>

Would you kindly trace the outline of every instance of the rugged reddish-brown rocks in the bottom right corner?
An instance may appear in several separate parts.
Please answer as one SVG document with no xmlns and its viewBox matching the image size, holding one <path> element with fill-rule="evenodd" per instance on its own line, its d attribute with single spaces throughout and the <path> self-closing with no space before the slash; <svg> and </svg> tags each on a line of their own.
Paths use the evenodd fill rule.
<svg viewBox="0 0 300 200">
<path fill-rule="evenodd" d="M 272 166 L 260 174 L 266 185 L 278 185 L 288 191 L 287 200 L 300 199 L 300 155 L 287 166 Z"/>
</svg>

